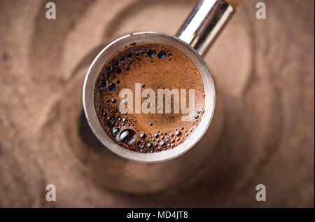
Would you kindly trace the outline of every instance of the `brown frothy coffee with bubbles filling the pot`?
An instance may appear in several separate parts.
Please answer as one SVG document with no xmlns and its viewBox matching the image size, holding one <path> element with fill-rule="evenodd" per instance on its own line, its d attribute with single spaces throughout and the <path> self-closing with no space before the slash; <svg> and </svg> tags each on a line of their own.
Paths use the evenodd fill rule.
<svg viewBox="0 0 315 222">
<path fill-rule="evenodd" d="M 155 95 L 161 89 L 175 89 L 181 97 L 181 90 L 188 94 L 188 90 L 193 89 L 194 110 L 176 113 L 179 100 L 172 95 L 168 100 L 171 112 L 166 109 L 166 96 L 162 97 L 162 109 L 155 99 L 154 112 L 139 113 L 141 107 L 135 107 L 136 99 L 133 99 L 131 111 L 121 112 L 121 106 L 130 105 L 120 97 L 123 89 L 130 90 L 132 95 L 139 95 L 139 90 L 144 92 L 146 89 L 155 91 Z M 132 151 L 153 153 L 179 146 L 190 137 L 203 116 L 204 96 L 199 71 L 181 51 L 160 43 L 132 43 L 104 64 L 95 82 L 94 107 L 99 123 L 118 145 Z M 146 99 L 142 95 L 141 104 Z M 188 99 L 185 102 L 180 107 L 190 107 Z M 188 115 L 192 120 L 182 119 Z"/>
</svg>

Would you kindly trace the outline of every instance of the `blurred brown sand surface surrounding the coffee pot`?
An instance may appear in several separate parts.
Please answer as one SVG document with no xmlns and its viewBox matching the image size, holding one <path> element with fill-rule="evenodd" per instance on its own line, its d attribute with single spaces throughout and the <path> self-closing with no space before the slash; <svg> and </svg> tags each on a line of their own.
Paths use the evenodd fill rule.
<svg viewBox="0 0 315 222">
<path fill-rule="evenodd" d="M 266 0 L 267 20 L 244 1 L 205 57 L 225 105 L 211 170 L 148 195 L 105 188 L 73 154 L 78 139 L 99 145 L 83 78 L 106 43 L 175 34 L 197 1 L 54 2 L 57 20 L 46 20 L 46 1 L 0 0 L 0 207 L 314 207 L 314 1 Z M 45 201 L 48 183 L 56 202 Z M 255 201 L 258 183 L 266 202 Z"/>
</svg>

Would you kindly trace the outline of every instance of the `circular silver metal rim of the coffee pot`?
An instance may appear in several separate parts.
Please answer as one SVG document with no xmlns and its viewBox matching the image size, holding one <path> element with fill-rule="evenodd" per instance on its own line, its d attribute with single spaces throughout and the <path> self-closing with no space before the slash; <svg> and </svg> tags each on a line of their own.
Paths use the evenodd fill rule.
<svg viewBox="0 0 315 222">
<path fill-rule="evenodd" d="M 100 123 L 98 122 L 98 119 L 97 119 L 97 121 L 94 120 L 94 116 L 92 117 L 92 111 L 91 111 L 91 109 L 94 110 L 94 97 L 92 99 L 93 100 L 92 108 L 90 107 L 90 105 L 87 104 L 87 101 L 89 99 L 89 98 L 87 98 L 87 93 L 90 95 L 90 92 L 87 92 L 87 90 L 93 90 L 93 95 L 94 95 L 94 85 L 93 85 L 93 88 L 90 88 L 90 87 L 87 86 L 87 82 L 90 81 L 91 75 L 94 74 L 91 71 L 93 71 L 95 66 L 99 65 L 99 62 L 100 62 L 99 59 L 102 56 L 104 56 L 104 53 L 106 53 L 106 51 L 109 50 L 109 48 L 113 47 L 115 44 L 120 43 L 121 41 L 130 41 L 130 43 L 132 43 L 132 40 L 130 40 L 130 39 L 136 39 L 137 36 L 143 36 L 143 35 L 148 35 L 148 34 L 149 35 L 151 34 L 151 35 L 164 36 L 165 38 L 172 39 L 172 41 L 176 41 L 179 44 L 182 44 L 183 46 L 186 46 L 186 48 L 188 48 L 192 53 L 194 53 L 194 55 L 197 58 L 197 60 L 199 60 L 199 62 L 202 63 L 202 66 L 203 66 L 203 69 L 204 69 L 204 72 L 200 73 L 202 75 L 202 77 L 206 76 L 206 74 L 209 76 L 209 79 L 207 78 L 208 79 L 207 81 L 209 82 L 210 86 L 209 85 L 208 86 L 210 88 L 212 88 L 211 92 L 213 94 L 212 98 L 211 98 L 213 104 L 209 108 L 209 109 L 211 109 L 211 113 L 210 113 L 210 115 L 207 116 L 207 120 L 205 120 L 206 122 L 204 122 L 204 123 L 206 123 L 206 125 L 202 125 L 204 127 L 204 130 L 202 130 L 201 133 L 197 135 L 197 139 L 195 139 L 195 138 L 193 138 L 193 139 L 186 139 L 186 141 L 193 140 L 193 142 L 190 142 L 189 146 L 187 146 L 186 148 L 183 146 L 183 145 L 186 144 L 186 141 L 184 141 L 182 144 L 180 144 L 179 146 L 176 146 L 175 148 L 172 148 L 172 149 L 169 149 L 169 150 L 166 150 L 166 151 L 160 151 L 160 152 L 157 152 L 157 153 L 138 153 L 138 152 L 134 152 L 134 151 L 129 151 L 129 150 L 119 146 L 118 144 L 116 144 L 116 142 L 113 141 L 106 134 L 106 132 L 104 130 L 103 131 L 104 131 L 104 133 L 106 135 L 104 135 L 104 134 L 102 134 L 102 136 L 99 135 L 99 133 L 97 132 L 98 129 L 96 129 L 96 128 L 100 126 Z M 150 42 L 150 41 L 148 41 L 148 42 Z M 171 45 L 171 44 L 169 44 L 169 45 Z M 120 48 L 116 48 L 116 51 L 117 50 L 120 50 Z M 184 53 L 184 54 L 186 54 L 186 53 Z M 111 55 L 113 55 L 113 54 L 111 54 Z M 102 63 L 102 64 L 104 64 L 104 63 Z M 195 64 L 195 62 L 194 62 L 194 64 Z M 197 65 L 196 65 L 196 67 L 197 67 Z M 199 68 L 197 67 L 197 69 L 199 69 Z M 98 73 L 97 73 L 97 76 L 98 76 Z M 204 78 L 202 78 L 202 81 L 204 83 Z M 209 96 L 211 96 L 211 95 L 209 95 Z M 206 97 L 207 97 L 207 94 L 206 94 Z M 205 99 L 205 103 L 206 103 L 206 99 Z M 176 158 L 179 155 L 182 155 L 183 153 L 186 153 L 188 150 L 190 150 L 190 148 L 195 146 L 195 144 L 197 144 L 197 142 L 200 141 L 200 139 L 202 139 L 204 133 L 209 128 L 211 120 L 212 120 L 212 118 L 214 116 L 215 104 L 216 104 L 216 92 L 215 92 L 215 88 L 214 88 L 214 80 L 213 80 L 213 78 L 211 76 L 211 72 L 210 72 L 209 68 L 207 67 L 207 64 L 204 62 L 204 60 L 201 57 L 201 55 L 199 53 L 197 53 L 197 51 L 194 48 L 192 48 L 191 46 L 189 46 L 187 43 L 185 43 L 181 39 L 177 38 L 176 36 L 172 36 L 170 34 L 165 34 L 165 33 L 162 33 L 162 32 L 137 32 L 137 33 L 133 33 L 133 34 L 128 34 L 128 35 L 122 36 L 122 37 L 116 39 L 115 41 L 109 43 L 109 45 L 107 45 L 97 55 L 97 57 L 95 57 L 95 59 L 93 60 L 93 62 L 90 65 L 89 69 L 87 70 L 87 74 L 85 76 L 85 81 L 84 81 L 84 84 L 83 84 L 83 108 L 84 108 L 84 112 L 85 112 L 85 117 L 87 119 L 87 123 L 90 125 L 91 130 L 94 133 L 94 135 L 97 137 L 97 139 L 99 139 L 99 141 L 102 142 L 102 144 L 106 148 L 109 148 L 109 150 L 113 151 L 113 153 L 116 153 L 117 155 L 120 155 L 121 157 L 126 158 L 127 160 L 133 160 L 133 161 L 137 161 L 137 162 L 147 162 L 147 163 L 164 162 L 164 161 L 167 161 L 167 160 L 172 160 L 173 158 Z M 206 104 L 205 104 L 205 106 L 206 106 Z M 94 112 L 95 112 L 95 110 L 94 110 Z M 205 110 L 204 115 L 205 114 L 206 114 L 206 110 Z M 95 116 L 96 116 L 96 113 L 95 113 Z M 91 120 L 93 120 L 93 123 L 91 122 Z M 200 121 L 200 124 L 202 123 L 202 121 L 203 120 Z M 96 126 L 97 123 L 99 124 L 99 126 Z M 200 128 L 200 124 L 196 128 L 195 132 L 197 132 L 197 129 Z M 193 137 L 195 132 L 190 137 Z M 106 136 L 108 138 L 104 138 Z M 169 151 L 176 150 L 176 149 L 178 150 L 180 146 L 181 146 L 181 150 L 180 151 L 169 152 Z M 162 154 L 159 154 L 159 153 L 162 153 Z M 153 156 L 154 156 L 154 158 L 153 158 Z"/>
</svg>

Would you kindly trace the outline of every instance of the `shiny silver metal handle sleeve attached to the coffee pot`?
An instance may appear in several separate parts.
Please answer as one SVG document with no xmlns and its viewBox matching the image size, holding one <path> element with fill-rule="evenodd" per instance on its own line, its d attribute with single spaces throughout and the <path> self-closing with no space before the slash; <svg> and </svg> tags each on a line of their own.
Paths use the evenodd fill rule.
<svg viewBox="0 0 315 222">
<path fill-rule="evenodd" d="M 234 12 L 225 0 L 201 0 L 176 36 L 205 55 Z"/>
</svg>

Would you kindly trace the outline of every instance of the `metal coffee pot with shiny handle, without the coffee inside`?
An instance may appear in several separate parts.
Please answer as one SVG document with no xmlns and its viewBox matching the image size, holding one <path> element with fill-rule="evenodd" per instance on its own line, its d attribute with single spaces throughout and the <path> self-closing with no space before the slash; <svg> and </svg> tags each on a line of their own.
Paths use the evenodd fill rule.
<svg viewBox="0 0 315 222">
<path fill-rule="evenodd" d="M 83 107 L 87 123 L 104 145 L 90 152 L 73 148 L 87 172 L 106 187 L 128 193 L 157 192 L 171 186 L 190 186 L 207 172 L 204 163 L 214 151 L 223 127 L 223 105 L 211 71 L 202 56 L 232 17 L 235 8 L 225 0 L 202 0 L 179 32 L 137 32 L 109 43 L 92 62 L 83 85 Z M 204 115 L 183 144 L 167 151 L 138 153 L 116 144 L 102 129 L 94 109 L 94 85 L 109 58 L 131 43 L 158 42 L 181 50 L 194 64 L 204 83 Z M 83 161 L 83 155 L 84 161 Z"/>
</svg>

